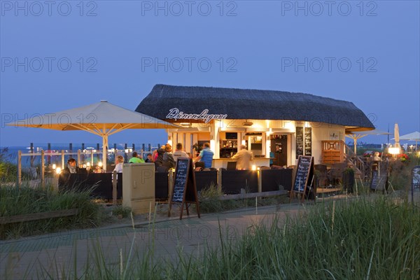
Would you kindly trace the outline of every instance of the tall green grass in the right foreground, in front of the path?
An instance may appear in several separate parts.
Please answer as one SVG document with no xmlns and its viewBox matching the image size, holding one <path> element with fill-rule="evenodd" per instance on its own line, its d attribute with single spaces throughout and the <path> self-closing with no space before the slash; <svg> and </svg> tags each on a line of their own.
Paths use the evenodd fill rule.
<svg viewBox="0 0 420 280">
<path fill-rule="evenodd" d="M 124 277 L 117 264 L 115 269 L 106 266 L 98 247 L 97 259 L 81 279 L 369 280 L 420 275 L 420 210 L 383 197 L 318 205 L 303 216 L 248 228 L 236 241 L 222 227 L 219 235 L 217 246 L 207 246 L 198 256 L 180 249 L 172 262 L 151 258 L 153 246 L 137 251 Z M 67 273 L 64 279 L 74 275 Z"/>
</svg>

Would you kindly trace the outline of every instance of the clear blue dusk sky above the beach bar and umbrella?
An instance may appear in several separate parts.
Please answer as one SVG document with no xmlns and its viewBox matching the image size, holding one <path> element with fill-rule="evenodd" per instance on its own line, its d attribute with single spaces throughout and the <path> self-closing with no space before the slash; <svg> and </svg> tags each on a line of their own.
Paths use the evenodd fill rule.
<svg viewBox="0 0 420 280">
<path fill-rule="evenodd" d="M 102 99 L 134 110 L 159 83 L 316 94 L 379 130 L 420 131 L 419 1 L 0 3 L 0 146 L 102 143 L 6 123 Z M 166 139 L 127 130 L 109 143 Z"/>
</svg>

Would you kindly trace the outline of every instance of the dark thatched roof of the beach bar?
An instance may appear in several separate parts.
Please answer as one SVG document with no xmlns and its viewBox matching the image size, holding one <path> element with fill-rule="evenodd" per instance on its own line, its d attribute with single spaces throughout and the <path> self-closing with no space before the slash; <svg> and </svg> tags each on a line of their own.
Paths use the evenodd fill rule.
<svg viewBox="0 0 420 280">
<path fill-rule="evenodd" d="M 165 120 L 173 108 L 197 114 L 209 109 L 209 114 L 226 114 L 228 119 L 302 120 L 374 128 L 351 102 L 275 90 L 155 85 L 136 111 Z"/>
</svg>

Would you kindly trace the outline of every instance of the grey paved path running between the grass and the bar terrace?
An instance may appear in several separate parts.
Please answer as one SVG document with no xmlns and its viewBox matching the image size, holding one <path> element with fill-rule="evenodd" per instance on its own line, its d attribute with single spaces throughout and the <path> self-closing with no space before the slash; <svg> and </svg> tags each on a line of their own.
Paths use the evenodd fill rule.
<svg viewBox="0 0 420 280">
<path fill-rule="evenodd" d="M 419 203 L 420 191 L 415 197 Z M 62 269 L 80 273 L 87 260 L 93 261 L 98 248 L 106 256 L 106 265 L 118 269 L 120 251 L 126 258 L 133 240 L 139 255 L 153 254 L 153 258 L 176 261 L 179 252 L 200 255 L 206 246 L 218 246 L 221 236 L 235 241 L 244 232 L 252 230 L 253 225 L 271 225 L 274 218 L 282 223 L 287 217 L 303 214 L 311 207 L 311 204 L 281 204 L 260 207 L 257 211 L 249 208 L 223 214 L 202 214 L 201 218 L 184 216 L 182 220 L 179 220 L 179 214 L 173 214 L 176 218 L 135 223 L 134 228 L 131 224 L 112 225 L 0 241 L 0 277 L 42 279 L 40 273 L 48 272 L 59 279 L 57 272 Z M 74 265 L 77 265 L 76 269 Z"/>
</svg>

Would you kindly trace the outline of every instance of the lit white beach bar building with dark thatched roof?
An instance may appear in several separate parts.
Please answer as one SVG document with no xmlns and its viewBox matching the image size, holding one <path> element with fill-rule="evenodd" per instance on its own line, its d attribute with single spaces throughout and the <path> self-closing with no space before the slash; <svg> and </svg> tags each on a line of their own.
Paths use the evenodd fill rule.
<svg viewBox="0 0 420 280">
<path fill-rule="evenodd" d="M 179 125 L 167 130 L 168 143 L 194 157 L 209 142 L 216 168 L 226 168 L 241 145 L 256 166 L 289 167 L 299 155 L 344 162 L 346 132 L 374 130 L 351 102 L 276 90 L 155 85 L 136 111 Z"/>
</svg>

